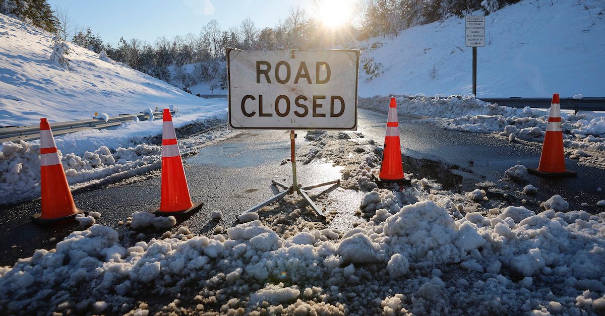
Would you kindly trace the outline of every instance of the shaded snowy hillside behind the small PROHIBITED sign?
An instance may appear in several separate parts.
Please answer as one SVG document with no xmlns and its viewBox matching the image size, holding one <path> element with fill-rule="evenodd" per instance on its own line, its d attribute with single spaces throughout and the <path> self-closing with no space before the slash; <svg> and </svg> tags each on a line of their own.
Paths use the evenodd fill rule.
<svg viewBox="0 0 605 316">
<path fill-rule="evenodd" d="M 472 48 L 465 47 L 464 33 L 464 19 L 455 16 L 369 39 L 362 61 L 373 59 L 383 73 L 368 81 L 360 69 L 359 94 L 472 92 Z M 525 0 L 502 8 L 486 17 L 486 47 L 477 48 L 477 94 L 603 96 L 604 38 L 600 0 Z"/>
</svg>

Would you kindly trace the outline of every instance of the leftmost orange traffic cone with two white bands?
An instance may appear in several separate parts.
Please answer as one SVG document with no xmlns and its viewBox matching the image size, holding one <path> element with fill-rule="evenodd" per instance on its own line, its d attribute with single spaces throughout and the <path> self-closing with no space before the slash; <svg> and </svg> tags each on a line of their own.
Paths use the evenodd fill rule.
<svg viewBox="0 0 605 316">
<path fill-rule="evenodd" d="M 49 224 L 73 219 L 84 211 L 76 208 L 71 197 L 70 186 L 57 146 L 54 144 L 53 131 L 46 119 L 40 119 L 40 186 L 42 188 L 42 213 L 34 214 L 31 219 L 36 223 Z"/>
</svg>

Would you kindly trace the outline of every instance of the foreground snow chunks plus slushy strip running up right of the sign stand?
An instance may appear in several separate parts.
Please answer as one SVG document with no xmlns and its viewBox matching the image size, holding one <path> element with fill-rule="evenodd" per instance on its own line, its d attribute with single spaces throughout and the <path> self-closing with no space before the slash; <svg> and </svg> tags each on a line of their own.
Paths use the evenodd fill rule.
<svg viewBox="0 0 605 316">
<path fill-rule="evenodd" d="M 490 200 L 479 189 L 444 191 L 434 179 L 414 176 L 408 188 L 378 188 L 369 175 L 378 173 L 382 148 L 360 137 L 307 135 L 307 156 L 344 166 L 342 185 L 365 193 L 353 202 L 359 203 L 354 228 L 330 228 L 340 212 L 318 221 L 293 197 L 263 208 L 257 220 L 217 227 L 210 237 L 185 226 L 164 234 L 140 230 L 175 221 L 158 226 L 136 213 L 126 222 L 134 239 L 93 225 L 51 251 L 0 268 L 0 312 L 605 311 L 605 212 L 569 209 L 560 196 L 528 209 Z"/>
</svg>

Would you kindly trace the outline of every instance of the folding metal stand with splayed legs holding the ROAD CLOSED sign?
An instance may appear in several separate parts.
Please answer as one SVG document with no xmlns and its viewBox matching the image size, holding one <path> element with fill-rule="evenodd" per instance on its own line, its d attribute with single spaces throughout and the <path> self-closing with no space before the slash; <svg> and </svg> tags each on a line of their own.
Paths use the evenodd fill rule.
<svg viewBox="0 0 605 316">
<path fill-rule="evenodd" d="M 281 191 L 280 193 L 276 194 L 275 196 L 273 196 L 272 198 L 264 201 L 263 203 L 260 203 L 257 206 L 254 206 L 253 208 L 250 208 L 249 210 L 247 210 L 246 212 L 256 212 L 259 209 L 263 208 L 263 206 L 267 206 L 277 200 L 281 200 L 283 199 L 284 196 L 286 196 L 287 194 L 294 194 L 295 192 L 298 193 L 300 196 L 302 196 L 302 198 L 304 200 L 307 201 L 307 203 L 309 203 L 309 205 L 311 206 L 311 208 L 313 209 L 313 211 L 316 212 L 316 214 L 319 217 L 324 217 L 324 213 L 321 211 L 321 209 L 319 209 L 317 207 L 317 205 L 315 205 L 315 203 L 313 203 L 313 201 L 311 200 L 311 198 L 309 197 L 309 194 L 307 193 L 308 189 L 313 189 L 313 188 L 318 188 L 319 186 L 326 186 L 326 185 L 333 185 L 336 183 L 340 183 L 340 180 L 334 180 L 334 181 L 330 181 L 330 182 L 324 182 L 324 183 L 319 183 L 316 185 L 309 185 L 309 186 L 301 186 L 298 185 L 298 183 L 296 183 L 296 157 L 295 157 L 295 150 L 294 150 L 294 146 L 295 146 L 295 142 L 294 139 L 296 138 L 296 134 L 294 133 L 294 131 L 290 131 L 290 153 L 292 155 L 291 159 L 292 159 L 292 182 L 293 185 L 291 186 L 285 186 L 279 182 L 276 182 L 275 180 L 272 181 L 273 185 L 275 186 L 279 186 L 280 188 L 283 188 L 284 191 Z"/>
</svg>

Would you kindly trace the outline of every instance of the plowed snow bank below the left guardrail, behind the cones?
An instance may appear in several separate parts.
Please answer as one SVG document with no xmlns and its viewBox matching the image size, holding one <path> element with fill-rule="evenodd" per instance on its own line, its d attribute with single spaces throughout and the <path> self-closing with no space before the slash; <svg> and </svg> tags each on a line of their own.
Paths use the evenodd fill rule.
<svg viewBox="0 0 605 316">
<path fill-rule="evenodd" d="M 161 122 L 160 122 L 161 123 Z M 217 123 L 211 120 L 209 123 Z M 194 124 L 193 131 L 207 125 Z M 229 136 L 226 130 L 213 130 L 204 134 L 179 140 L 181 155 L 191 156 L 203 146 Z M 79 140 L 71 141 L 70 136 L 57 137 L 61 163 L 72 188 L 84 188 L 96 183 L 112 183 L 138 174 L 157 170 L 162 166 L 162 147 L 140 143 L 115 149 L 96 143 L 80 146 Z M 143 140 L 143 139 L 137 139 Z M 128 144 L 129 142 L 125 142 Z M 63 148 L 63 149 L 62 149 Z M 90 148 L 90 151 L 88 151 Z M 96 149 L 92 149 L 96 148 Z M 76 150 L 79 154 L 63 154 L 66 150 Z M 40 196 L 40 145 L 39 141 L 19 143 L 5 142 L 0 148 L 0 194 L 5 196 L 0 205 L 18 203 Z"/>
</svg>

